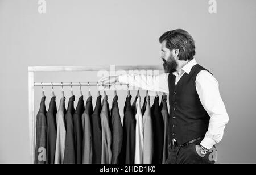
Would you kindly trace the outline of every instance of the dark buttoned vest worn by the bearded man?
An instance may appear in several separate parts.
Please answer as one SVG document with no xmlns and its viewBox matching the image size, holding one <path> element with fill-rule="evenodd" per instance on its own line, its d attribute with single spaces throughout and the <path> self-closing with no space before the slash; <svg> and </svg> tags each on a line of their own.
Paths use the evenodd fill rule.
<svg viewBox="0 0 256 175">
<path fill-rule="evenodd" d="M 201 70 L 207 69 L 198 64 L 193 66 L 189 74 L 184 73 L 177 86 L 175 85 L 176 76 L 172 73 L 168 76 L 169 140 L 174 138 L 179 145 L 204 136 L 208 130 L 210 117 L 196 91 L 196 76 Z"/>
</svg>

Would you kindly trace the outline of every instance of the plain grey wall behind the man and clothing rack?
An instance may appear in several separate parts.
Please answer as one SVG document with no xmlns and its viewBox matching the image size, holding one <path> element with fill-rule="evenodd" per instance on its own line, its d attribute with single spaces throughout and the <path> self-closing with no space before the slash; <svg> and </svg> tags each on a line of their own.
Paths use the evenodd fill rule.
<svg viewBox="0 0 256 175">
<path fill-rule="evenodd" d="M 0 163 L 30 162 L 28 66 L 162 65 L 158 38 L 175 28 L 193 36 L 197 61 L 220 84 L 230 122 L 217 144 L 218 163 L 256 163 L 256 1 L 217 0 L 217 14 L 208 12 L 208 0 L 46 3 L 39 14 L 37 0 L 0 0 Z M 95 73 L 35 74 L 35 81 L 97 80 Z M 48 108 L 51 88 L 45 89 Z M 79 87 L 73 89 L 77 102 Z M 40 91 L 35 87 L 35 113 Z M 60 87 L 55 92 L 59 105 Z M 107 93 L 111 106 L 113 91 Z M 121 115 L 126 93 L 118 91 Z"/>
</svg>

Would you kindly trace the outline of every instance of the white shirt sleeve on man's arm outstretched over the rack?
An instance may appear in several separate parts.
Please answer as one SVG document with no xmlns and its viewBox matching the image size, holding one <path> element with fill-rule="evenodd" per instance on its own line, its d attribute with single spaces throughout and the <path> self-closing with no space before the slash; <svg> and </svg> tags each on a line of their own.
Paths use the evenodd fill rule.
<svg viewBox="0 0 256 175">
<path fill-rule="evenodd" d="M 135 73 L 122 74 L 118 76 L 118 80 L 123 84 L 139 87 L 144 90 L 168 93 L 168 75 L 168 73 L 163 73 L 156 76 Z"/>
</svg>

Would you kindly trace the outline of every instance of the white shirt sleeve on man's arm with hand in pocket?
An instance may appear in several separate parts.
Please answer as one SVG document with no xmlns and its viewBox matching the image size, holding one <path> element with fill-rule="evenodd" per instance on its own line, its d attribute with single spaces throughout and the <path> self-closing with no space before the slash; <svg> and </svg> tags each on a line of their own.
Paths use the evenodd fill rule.
<svg viewBox="0 0 256 175">
<path fill-rule="evenodd" d="M 224 102 L 221 99 L 216 78 L 208 71 L 201 71 L 196 77 L 196 90 L 200 101 L 210 116 L 208 131 L 201 145 L 210 149 L 223 138 L 224 129 L 229 122 Z"/>
</svg>

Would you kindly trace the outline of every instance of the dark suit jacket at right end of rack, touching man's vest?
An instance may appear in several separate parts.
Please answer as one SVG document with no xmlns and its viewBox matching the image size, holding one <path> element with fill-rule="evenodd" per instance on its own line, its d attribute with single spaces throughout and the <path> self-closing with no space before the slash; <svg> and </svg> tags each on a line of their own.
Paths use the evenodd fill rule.
<svg viewBox="0 0 256 175">
<path fill-rule="evenodd" d="M 167 102 L 166 102 L 166 95 L 162 96 L 161 104 L 160 104 L 160 110 L 161 114 L 163 116 L 163 122 L 164 122 L 164 142 L 163 142 L 163 164 L 166 163 L 166 160 L 168 158 L 168 120 L 169 120 L 169 113 L 167 108 Z"/>
</svg>

